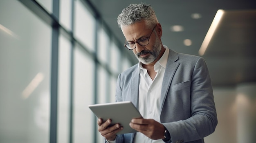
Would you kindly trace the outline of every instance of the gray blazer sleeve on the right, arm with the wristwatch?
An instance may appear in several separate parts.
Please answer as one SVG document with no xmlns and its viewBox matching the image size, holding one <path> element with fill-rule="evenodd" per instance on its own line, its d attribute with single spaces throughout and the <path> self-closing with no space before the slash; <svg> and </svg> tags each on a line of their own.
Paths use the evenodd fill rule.
<svg viewBox="0 0 256 143">
<path fill-rule="evenodd" d="M 203 140 L 205 136 L 214 132 L 218 123 L 211 78 L 203 58 L 198 59 L 192 71 L 190 96 L 188 96 L 191 103 L 191 117 L 163 123 L 170 132 L 173 142 Z"/>
</svg>

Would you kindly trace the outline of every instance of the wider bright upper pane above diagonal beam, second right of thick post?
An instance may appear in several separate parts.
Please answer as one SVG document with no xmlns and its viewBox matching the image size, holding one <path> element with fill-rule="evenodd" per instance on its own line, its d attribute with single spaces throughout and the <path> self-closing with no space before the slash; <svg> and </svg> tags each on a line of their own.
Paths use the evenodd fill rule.
<svg viewBox="0 0 256 143">
<path fill-rule="evenodd" d="M 86 48 L 94 51 L 95 19 L 80 0 L 75 0 L 74 35 Z"/>
</svg>

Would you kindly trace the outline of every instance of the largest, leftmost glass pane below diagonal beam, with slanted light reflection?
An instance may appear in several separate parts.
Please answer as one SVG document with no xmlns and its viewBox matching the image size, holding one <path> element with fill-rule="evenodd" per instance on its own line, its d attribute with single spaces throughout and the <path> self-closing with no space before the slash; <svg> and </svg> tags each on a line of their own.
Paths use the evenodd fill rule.
<svg viewBox="0 0 256 143">
<path fill-rule="evenodd" d="M 23 4 L 0 0 L 0 143 L 49 142 L 51 35 Z"/>
</svg>

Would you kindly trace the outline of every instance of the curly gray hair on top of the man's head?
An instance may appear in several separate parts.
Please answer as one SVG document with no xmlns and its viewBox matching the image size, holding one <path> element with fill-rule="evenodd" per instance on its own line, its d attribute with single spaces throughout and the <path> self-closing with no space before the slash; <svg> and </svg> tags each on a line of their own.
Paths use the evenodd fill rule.
<svg viewBox="0 0 256 143">
<path fill-rule="evenodd" d="M 142 20 L 148 27 L 153 27 L 158 23 L 153 7 L 145 3 L 130 4 L 118 15 L 117 24 L 119 27 L 128 26 Z"/>
</svg>

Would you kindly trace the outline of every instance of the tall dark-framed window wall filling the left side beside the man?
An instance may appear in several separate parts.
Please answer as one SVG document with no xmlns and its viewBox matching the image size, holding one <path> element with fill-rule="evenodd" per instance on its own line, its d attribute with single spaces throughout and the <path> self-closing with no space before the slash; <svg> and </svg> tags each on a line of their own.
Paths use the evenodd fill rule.
<svg viewBox="0 0 256 143">
<path fill-rule="evenodd" d="M 117 74 L 130 66 L 124 47 L 86 0 L 36 2 L 0 0 L 0 143 L 103 141 L 88 105 L 115 102 Z"/>
</svg>

